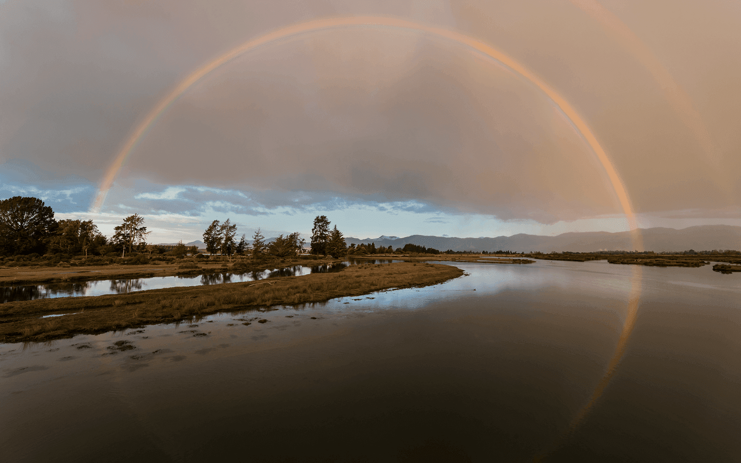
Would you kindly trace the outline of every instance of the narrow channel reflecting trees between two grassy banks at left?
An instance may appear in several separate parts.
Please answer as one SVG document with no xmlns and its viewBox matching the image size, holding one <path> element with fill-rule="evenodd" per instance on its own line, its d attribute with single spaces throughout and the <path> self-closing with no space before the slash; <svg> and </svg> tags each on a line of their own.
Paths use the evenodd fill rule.
<svg viewBox="0 0 741 463">
<path fill-rule="evenodd" d="M 354 259 L 353 263 L 355 263 Z M 156 290 L 165 287 L 253 282 L 267 278 L 339 272 L 347 267 L 348 264 L 350 262 L 322 265 L 293 265 L 259 272 L 222 272 L 197 276 L 152 276 L 136 279 L 5 286 L 0 287 L 0 302 L 31 301 L 34 299 L 58 297 L 103 296 L 104 294 L 125 294 L 133 291 Z"/>
</svg>

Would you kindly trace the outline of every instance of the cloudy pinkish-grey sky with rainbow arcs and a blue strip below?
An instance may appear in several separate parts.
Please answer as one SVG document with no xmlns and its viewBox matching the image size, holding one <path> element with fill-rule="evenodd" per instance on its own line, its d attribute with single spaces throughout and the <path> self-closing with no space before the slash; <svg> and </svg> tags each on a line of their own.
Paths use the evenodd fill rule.
<svg viewBox="0 0 741 463">
<path fill-rule="evenodd" d="M 736 0 L 0 0 L 0 199 L 109 236 L 139 213 L 155 243 L 741 225 L 738 24 Z"/>
</svg>

